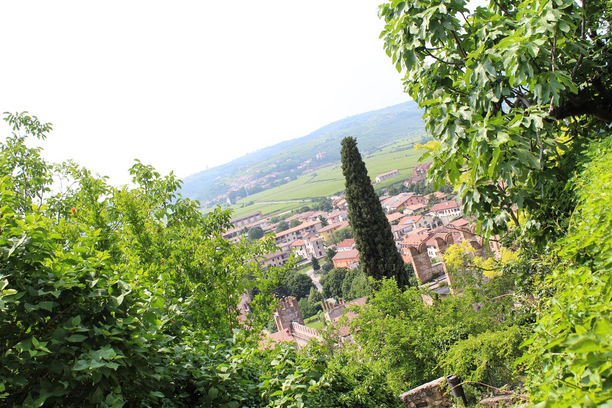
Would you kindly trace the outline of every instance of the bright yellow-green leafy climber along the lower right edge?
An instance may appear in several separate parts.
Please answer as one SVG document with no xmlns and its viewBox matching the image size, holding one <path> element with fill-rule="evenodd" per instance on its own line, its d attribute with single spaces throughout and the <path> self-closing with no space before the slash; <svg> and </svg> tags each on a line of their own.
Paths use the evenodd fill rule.
<svg viewBox="0 0 612 408">
<path fill-rule="evenodd" d="M 554 295 L 525 343 L 537 407 L 612 402 L 612 138 L 591 146 L 588 157 L 568 185 L 580 203 L 556 244 L 561 262 L 545 281 Z"/>
</svg>

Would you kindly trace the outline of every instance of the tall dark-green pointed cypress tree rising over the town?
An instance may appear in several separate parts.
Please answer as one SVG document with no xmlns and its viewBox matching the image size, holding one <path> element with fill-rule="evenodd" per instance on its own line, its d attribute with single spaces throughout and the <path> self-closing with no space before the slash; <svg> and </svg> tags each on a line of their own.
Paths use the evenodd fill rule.
<svg viewBox="0 0 612 408">
<path fill-rule="evenodd" d="M 348 218 L 359 251 L 359 263 L 368 276 L 395 278 L 400 287 L 408 285 L 404 260 L 401 259 L 365 163 L 357 149 L 357 139 L 345 137 L 340 151 Z"/>
</svg>

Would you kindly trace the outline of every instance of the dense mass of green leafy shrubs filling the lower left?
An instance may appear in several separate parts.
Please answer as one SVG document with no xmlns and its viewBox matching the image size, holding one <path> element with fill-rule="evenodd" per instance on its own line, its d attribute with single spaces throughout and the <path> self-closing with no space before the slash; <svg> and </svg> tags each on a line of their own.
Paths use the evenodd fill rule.
<svg viewBox="0 0 612 408">
<path fill-rule="evenodd" d="M 321 361 L 252 347 L 285 274 L 259 270 L 271 240 L 228 243 L 228 211 L 203 216 L 140 162 L 132 189 L 49 165 L 24 142 L 50 126 L 9 123 L 27 132 L 0 145 L 2 405 L 301 406 Z M 70 187 L 52 194 L 51 169 Z M 233 332 L 253 286 L 250 331 Z"/>
</svg>

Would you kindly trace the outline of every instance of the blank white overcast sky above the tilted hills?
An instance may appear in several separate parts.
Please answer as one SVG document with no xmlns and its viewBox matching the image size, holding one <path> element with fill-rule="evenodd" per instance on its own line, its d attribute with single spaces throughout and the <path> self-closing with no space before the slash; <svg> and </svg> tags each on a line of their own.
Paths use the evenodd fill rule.
<svg viewBox="0 0 612 408">
<path fill-rule="evenodd" d="M 184 177 L 408 100 L 378 3 L 4 2 L 0 112 L 113 184 L 136 158 Z"/>
</svg>

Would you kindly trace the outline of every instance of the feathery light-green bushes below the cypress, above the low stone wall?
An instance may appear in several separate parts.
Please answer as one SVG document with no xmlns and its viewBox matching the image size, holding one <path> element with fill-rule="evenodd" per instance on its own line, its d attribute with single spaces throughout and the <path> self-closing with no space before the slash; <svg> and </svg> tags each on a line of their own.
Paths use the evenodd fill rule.
<svg viewBox="0 0 612 408">
<path fill-rule="evenodd" d="M 401 292 L 393 279 L 385 279 L 351 327 L 359 328 L 354 336 L 358 346 L 400 393 L 448 374 L 440 364 L 457 342 L 506 330 L 514 319 L 508 297 L 491 301 L 478 290 L 465 289 L 460 297 L 427 306 L 418 289 Z"/>
</svg>

